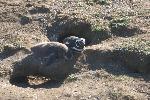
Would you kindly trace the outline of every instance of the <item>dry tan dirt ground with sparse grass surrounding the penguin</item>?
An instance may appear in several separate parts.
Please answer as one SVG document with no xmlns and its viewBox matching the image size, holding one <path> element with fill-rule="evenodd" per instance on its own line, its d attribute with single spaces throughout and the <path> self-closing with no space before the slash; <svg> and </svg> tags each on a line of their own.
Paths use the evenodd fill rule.
<svg viewBox="0 0 150 100">
<path fill-rule="evenodd" d="M 39 18 L 46 19 L 49 30 Z M 122 35 L 126 30 L 119 31 L 121 35 L 114 32 L 109 23 L 115 18 L 130 19 L 129 27 L 138 31 L 127 36 Z M 101 29 L 107 35 L 95 38 Z M 0 100 L 150 100 L 150 76 L 130 71 L 107 57 L 89 56 L 96 61 L 79 62 L 81 70 L 60 83 L 30 76 L 29 86 L 9 83 L 13 63 L 27 52 L 3 53 L 6 44 L 29 49 L 70 35 L 88 40 L 85 52 L 111 51 L 124 40 L 139 37 L 149 41 L 149 33 L 149 0 L 0 0 Z"/>
</svg>

